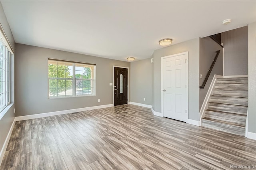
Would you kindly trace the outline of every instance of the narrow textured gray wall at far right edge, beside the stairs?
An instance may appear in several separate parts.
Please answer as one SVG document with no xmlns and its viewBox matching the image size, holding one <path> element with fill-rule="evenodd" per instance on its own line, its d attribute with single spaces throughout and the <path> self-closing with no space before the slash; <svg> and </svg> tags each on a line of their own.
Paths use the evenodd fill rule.
<svg viewBox="0 0 256 170">
<path fill-rule="evenodd" d="M 248 132 L 256 133 L 256 22 L 248 25 Z"/>
</svg>

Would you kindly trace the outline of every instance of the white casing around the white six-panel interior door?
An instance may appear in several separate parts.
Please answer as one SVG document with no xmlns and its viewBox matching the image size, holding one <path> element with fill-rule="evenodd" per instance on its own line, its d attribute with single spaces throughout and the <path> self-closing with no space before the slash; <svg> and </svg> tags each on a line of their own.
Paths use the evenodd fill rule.
<svg viewBox="0 0 256 170">
<path fill-rule="evenodd" d="M 185 55 L 185 59 L 186 59 L 186 110 L 187 110 L 187 113 L 189 114 L 189 111 L 188 111 L 188 51 L 186 51 L 186 52 L 183 52 L 183 53 L 178 53 L 178 54 L 173 54 L 173 55 L 168 55 L 168 56 L 161 57 L 161 113 L 163 115 L 164 115 L 163 60 L 165 58 L 176 57 L 178 55 Z M 187 118 L 187 120 L 188 120 L 188 118 Z"/>
</svg>

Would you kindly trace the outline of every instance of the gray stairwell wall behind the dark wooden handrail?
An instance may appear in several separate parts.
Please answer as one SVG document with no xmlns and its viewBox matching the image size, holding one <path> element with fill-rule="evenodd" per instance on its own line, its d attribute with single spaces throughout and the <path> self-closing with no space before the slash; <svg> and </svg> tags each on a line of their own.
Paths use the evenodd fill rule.
<svg viewBox="0 0 256 170">
<path fill-rule="evenodd" d="M 202 73 L 202 79 L 199 79 L 199 85 L 203 84 L 203 81 L 206 77 L 206 74 L 208 73 L 208 69 L 212 65 L 212 61 L 216 55 L 217 50 L 220 50 L 220 54 L 216 60 L 216 63 L 214 64 L 210 77 L 208 78 L 204 89 L 199 90 L 199 108 L 202 107 L 204 98 L 210 87 L 214 74 L 223 75 L 223 48 L 218 45 L 218 43 L 214 42 L 214 40 L 212 40 L 210 37 L 200 38 L 199 73 Z"/>
</svg>

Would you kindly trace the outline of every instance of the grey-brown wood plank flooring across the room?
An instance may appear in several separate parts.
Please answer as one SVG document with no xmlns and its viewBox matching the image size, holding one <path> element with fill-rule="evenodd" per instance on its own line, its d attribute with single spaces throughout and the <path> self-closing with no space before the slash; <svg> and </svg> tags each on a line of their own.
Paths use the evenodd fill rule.
<svg viewBox="0 0 256 170">
<path fill-rule="evenodd" d="M 17 121 L 1 170 L 256 167 L 256 142 L 122 105 Z"/>
</svg>

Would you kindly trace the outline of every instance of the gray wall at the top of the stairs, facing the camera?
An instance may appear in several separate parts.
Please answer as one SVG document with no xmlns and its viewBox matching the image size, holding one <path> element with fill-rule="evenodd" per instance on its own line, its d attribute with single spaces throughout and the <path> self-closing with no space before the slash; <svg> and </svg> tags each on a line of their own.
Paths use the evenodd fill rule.
<svg viewBox="0 0 256 170">
<path fill-rule="evenodd" d="M 224 46 L 224 75 L 248 74 L 247 26 L 221 33 Z"/>
</svg>

